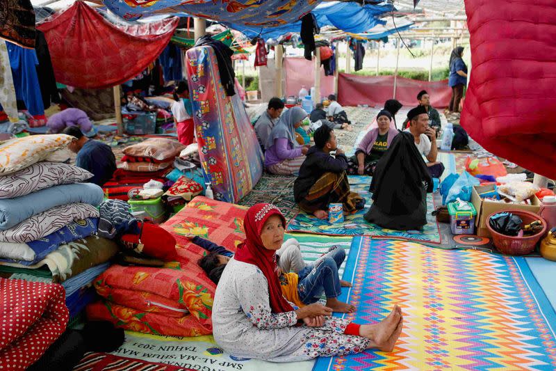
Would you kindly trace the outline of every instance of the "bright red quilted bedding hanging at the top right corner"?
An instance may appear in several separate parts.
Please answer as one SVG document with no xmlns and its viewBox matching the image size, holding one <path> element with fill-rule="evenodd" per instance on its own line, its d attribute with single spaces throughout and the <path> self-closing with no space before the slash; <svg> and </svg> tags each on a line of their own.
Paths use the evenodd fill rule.
<svg viewBox="0 0 556 371">
<path fill-rule="evenodd" d="M 465 8 L 472 70 L 461 125 L 493 154 L 556 178 L 556 2 Z"/>
</svg>

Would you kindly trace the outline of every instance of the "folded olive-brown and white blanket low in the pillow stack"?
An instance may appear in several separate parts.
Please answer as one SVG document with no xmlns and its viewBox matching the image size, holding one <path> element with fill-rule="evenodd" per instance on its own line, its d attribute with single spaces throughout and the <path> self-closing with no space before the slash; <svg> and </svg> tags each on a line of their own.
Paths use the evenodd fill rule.
<svg viewBox="0 0 556 371">
<path fill-rule="evenodd" d="M 21 262 L 19 264 L 2 262 L 1 264 L 14 268 L 27 268 L 29 271 L 47 266 L 51 274 L 51 281 L 60 283 L 77 276 L 86 269 L 108 262 L 117 251 L 117 244 L 110 239 L 90 236 L 61 245 L 34 265 L 24 265 Z"/>
</svg>

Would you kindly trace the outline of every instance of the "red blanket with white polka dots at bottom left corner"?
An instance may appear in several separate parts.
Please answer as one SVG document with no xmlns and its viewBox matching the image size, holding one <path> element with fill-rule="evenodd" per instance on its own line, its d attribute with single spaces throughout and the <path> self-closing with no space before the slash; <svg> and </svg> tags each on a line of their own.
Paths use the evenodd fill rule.
<svg viewBox="0 0 556 371">
<path fill-rule="evenodd" d="M 68 317 L 61 285 L 0 278 L 0 368 L 35 363 L 62 335 Z"/>
</svg>

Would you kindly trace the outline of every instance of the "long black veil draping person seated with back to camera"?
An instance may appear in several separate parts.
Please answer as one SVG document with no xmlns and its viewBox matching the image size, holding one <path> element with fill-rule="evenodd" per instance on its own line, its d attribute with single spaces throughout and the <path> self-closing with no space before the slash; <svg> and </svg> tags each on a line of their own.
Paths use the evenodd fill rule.
<svg viewBox="0 0 556 371">
<path fill-rule="evenodd" d="M 413 135 L 400 131 L 373 173 L 373 205 L 389 215 L 409 214 L 423 201 L 423 184 L 432 192 L 432 178 Z"/>
</svg>

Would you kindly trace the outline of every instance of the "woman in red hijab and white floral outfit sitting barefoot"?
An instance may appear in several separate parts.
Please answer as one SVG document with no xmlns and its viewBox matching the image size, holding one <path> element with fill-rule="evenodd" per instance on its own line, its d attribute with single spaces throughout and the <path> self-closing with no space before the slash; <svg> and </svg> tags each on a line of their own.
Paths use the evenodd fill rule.
<svg viewBox="0 0 556 371">
<path fill-rule="evenodd" d="M 395 306 L 377 324 L 353 324 L 330 317 L 332 309 L 313 303 L 296 309 L 281 294 L 275 252 L 286 220 L 275 205 L 247 211 L 245 241 L 238 246 L 216 287 L 213 335 L 229 354 L 264 361 L 304 361 L 377 348 L 391 352 L 402 331 Z"/>
</svg>

